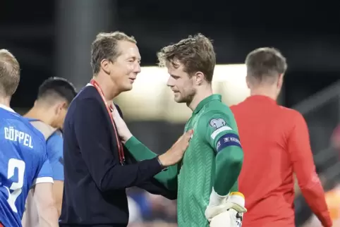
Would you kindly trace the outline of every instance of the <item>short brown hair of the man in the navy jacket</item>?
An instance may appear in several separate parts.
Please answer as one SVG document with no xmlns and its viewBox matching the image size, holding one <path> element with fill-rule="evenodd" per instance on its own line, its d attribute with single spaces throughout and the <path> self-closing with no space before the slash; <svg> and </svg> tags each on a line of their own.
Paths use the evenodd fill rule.
<svg viewBox="0 0 340 227">
<path fill-rule="evenodd" d="M 100 63 L 103 59 L 108 59 L 111 62 L 116 61 L 121 54 L 118 49 L 120 41 L 133 42 L 137 44 L 133 36 L 128 36 L 123 32 L 101 32 L 97 35 L 91 47 L 91 66 L 93 74 L 99 73 Z"/>
</svg>

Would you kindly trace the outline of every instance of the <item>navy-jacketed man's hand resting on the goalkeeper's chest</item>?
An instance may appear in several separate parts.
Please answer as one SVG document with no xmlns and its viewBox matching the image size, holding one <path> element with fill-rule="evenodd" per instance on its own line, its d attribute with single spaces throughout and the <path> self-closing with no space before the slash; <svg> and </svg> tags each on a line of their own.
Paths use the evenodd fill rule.
<svg viewBox="0 0 340 227">
<path fill-rule="evenodd" d="M 193 130 L 188 130 L 188 132 L 179 137 L 179 139 L 167 152 L 160 155 L 159 161 L 161 162 L 162 166 L 172 166 L 181 161 L 192 136 Z"/>
</svg>

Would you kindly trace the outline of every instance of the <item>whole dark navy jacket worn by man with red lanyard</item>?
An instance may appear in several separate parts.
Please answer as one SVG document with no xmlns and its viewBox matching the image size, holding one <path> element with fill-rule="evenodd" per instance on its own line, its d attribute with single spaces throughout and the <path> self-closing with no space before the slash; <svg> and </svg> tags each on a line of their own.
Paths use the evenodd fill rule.
<svg viewBox="0 0 340 227">
<path fill-rule="evenodd" d="M 119 164 L 116 135 L 95 87 L 83 88 L 73 99 L 63 136 L 60 226 L 127 226 L 126 188 L 133 186 L 176 199 L 176 193 L 152 178 L 162 171 L 157 158 L 137 162 L 124 152 L 126 164 Z"/>
</svg>

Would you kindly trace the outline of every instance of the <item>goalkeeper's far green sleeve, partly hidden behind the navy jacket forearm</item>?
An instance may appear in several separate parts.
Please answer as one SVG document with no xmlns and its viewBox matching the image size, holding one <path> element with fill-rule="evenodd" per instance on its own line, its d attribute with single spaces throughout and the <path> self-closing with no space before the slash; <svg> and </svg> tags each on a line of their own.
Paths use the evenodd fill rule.
<svg viewBox="0 0 340 227">
<path fill-rule="evenodd" d="M 153 159 L 157 157 L 157 154 L 150 151 L 145 145 L 142 144 L 136 137 L 131 137 L 125 144 L 126 149 L 137 161 L 142 161 L 145 159 Z M 154 178 L 162 183 L 164 187 L 169 190 L 177 190 L 177 175 L 178 166 L 169 166 L 165 171 L 158 173 Z"/>
</svg>

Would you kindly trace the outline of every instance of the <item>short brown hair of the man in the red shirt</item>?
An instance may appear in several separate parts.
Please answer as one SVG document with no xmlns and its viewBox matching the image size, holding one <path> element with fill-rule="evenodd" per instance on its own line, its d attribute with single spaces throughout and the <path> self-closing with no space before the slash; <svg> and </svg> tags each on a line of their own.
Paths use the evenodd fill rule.
<svg viewBox="0 0 340 227">
<path fill-rule="evenodd" d="M 286 73 L 286 58 L 278 49 L 262 47 L 251 51 L 245 59 L 247 75 L 254 82 L 274 82 Z"/>
</svg>

